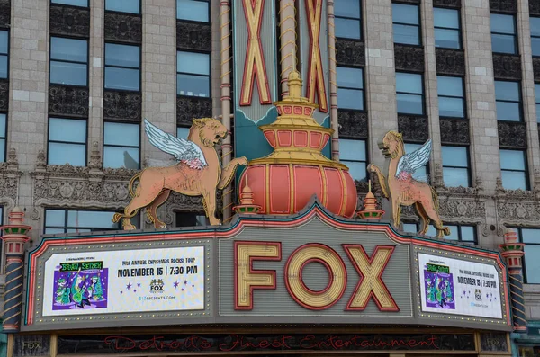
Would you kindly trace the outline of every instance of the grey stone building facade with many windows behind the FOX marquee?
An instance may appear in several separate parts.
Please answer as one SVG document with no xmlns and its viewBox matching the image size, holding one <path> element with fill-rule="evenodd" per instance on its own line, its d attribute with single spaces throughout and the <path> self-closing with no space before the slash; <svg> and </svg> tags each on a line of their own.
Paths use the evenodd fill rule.
<svg viewBox="0 0 540 357">
<path fill-rule="evenodd" d="M 539 39 L 536 0 L 0 0 L 0 216 L 25 210 L 29 250 L 42 234 L 121 229 L 112 214 L 133 174 L 172 163 L 144 118 L 178 137 L 220 118 L 224 164 L 265 156 L 257 126 L 298 69 L 314 118 L 334 129 L 324 153 L 350 168 L 359 200 L 397 130 L 407 151 L 432 140 L 417 176 L 438 192 L 447 239 L 494 250 L 518 232 L 529 329 L 512 341 L 537 357 Z M 224 223 L 238 193 L 218 198 Z M 198 197 L 173 194 L 160 212 L 169 227 L 206 224 Z M 402 216 L 416 232 L 413 211 Z"/>
</svg>

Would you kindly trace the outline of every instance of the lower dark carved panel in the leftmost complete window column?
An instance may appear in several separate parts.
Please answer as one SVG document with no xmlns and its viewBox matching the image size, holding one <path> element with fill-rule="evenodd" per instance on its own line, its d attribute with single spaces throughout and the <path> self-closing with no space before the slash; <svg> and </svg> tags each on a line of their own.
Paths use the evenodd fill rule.
<svg viewBox="0 0 540 357">
<path fill-rule="evenodd" d="M 49 113 L 88 117 L 88 88 L 49 85 Z"/>
</svg>

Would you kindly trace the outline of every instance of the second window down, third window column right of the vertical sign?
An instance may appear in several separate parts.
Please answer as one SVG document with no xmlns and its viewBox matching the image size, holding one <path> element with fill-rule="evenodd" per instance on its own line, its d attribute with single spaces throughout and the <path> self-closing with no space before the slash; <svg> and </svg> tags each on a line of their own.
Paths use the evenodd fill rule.
<svg viewBox="0 0 540 357">
<path fill-rule="evenodd" d="M 437 76 L 439 116 L 465 117 L 464 78 L 460 76 Z"/>
</svg>

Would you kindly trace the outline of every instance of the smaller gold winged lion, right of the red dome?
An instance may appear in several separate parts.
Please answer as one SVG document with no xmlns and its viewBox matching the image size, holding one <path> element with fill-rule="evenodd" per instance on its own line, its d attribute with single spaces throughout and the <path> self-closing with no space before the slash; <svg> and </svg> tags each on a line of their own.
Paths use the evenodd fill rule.
<svg viewBox="0 0 540 357">
<path fill-rule="evenodd" d="M 428 163 L 431 154 L 431 139 L 419 149 L 405 154 L 401 134 L 389 131 L 379 147 L 383 150 L 384 156 L 387 158 L 390 156 L 386 176 L 375 165 L 369 165 L 368 170 L 377 174 L 383 195 L 391 201 L 394 225 L 400 225 L 401 205 L 414 204 L 419 218 L 422 219 L 419 235 L 425 235 L 428 232 L 431 219 L 437 228 L 437 237 L 449 236 L 450 229 L 443 227 L 443 221 L 438 214 L 437 192 L 428 183 L 420 182 L 412 177 L 416 170 Z"/>
</svg>

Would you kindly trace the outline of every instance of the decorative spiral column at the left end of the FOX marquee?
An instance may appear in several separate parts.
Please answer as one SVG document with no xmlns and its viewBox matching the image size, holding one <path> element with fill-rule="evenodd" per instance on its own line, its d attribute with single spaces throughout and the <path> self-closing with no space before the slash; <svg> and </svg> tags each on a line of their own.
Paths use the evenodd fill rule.
<svg viewBox="0 0 540 357">
<path fill-rule="evenodd" d="M 23 303 L 24 244 L 30 226 L 24 225 L 24 212 L 15 207 L 9 214 L 9 224 L 2 226 L 5 253 L 4 333 L 19 332 Z"/>
</svg>

